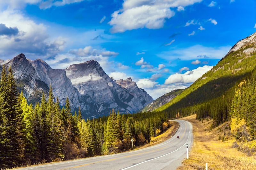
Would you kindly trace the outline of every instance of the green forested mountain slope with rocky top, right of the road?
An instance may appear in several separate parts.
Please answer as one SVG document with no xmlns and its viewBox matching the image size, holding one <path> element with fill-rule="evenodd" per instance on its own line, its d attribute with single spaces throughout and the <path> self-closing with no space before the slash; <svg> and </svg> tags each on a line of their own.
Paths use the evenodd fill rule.
<svg viewBox="0 0 256 170">
<path fill-rule="evenodd" d="M 216 125 L 229 118 L 237 85 L 255 78 L 256 33 L 239 41 L 212 70 L 196 80 L 176 98 L 159 107 L 170 117 L 197 114 L 211 116 Z"/>
</svg>

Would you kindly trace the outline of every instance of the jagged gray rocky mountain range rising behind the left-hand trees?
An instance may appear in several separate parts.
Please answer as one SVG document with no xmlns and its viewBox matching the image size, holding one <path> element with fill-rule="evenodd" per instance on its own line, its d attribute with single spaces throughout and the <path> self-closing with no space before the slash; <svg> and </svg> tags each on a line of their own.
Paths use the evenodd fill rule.
<svg viewBox="0 0 256 170">
<path fill-rule="evenodd" d="M 1 70 L 3 64 L 7 69 L 12 67 L 18 89 L 32 104 L 41 100 L 43 92 L 47 96 L 52 85 L 60 104 L 65 105 L 68 97 L 72 110 L 81 107 L 85 118 L 108 115 L 112 108 L 122 113 L 135 113 L 153 101 L 131 78 L 116 81 L 95 60 L 62 70 L 52 69 L 42 59 L 32 61 L 20 54 L 12 60 L 0 60 Z"/>
</svg>

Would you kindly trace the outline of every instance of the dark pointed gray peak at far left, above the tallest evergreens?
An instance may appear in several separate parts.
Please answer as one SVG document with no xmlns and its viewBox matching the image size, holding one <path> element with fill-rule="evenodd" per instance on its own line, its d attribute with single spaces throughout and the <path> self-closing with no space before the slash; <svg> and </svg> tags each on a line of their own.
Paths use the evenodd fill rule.
<svg viewBox="0 0 256 170">
<path fill-rule="evenodd" d="M 36 70 L 24 54 L 17 55 L 5 66 L 6 69 L 12 67 L 14 78 L 17 81 L 17 88 L 20 91 L 23 90 L 26 99 L 33 104 L 41 100 L 43 92 L 48 93 L 49 87 L 37 76 Z"/>
</svg>

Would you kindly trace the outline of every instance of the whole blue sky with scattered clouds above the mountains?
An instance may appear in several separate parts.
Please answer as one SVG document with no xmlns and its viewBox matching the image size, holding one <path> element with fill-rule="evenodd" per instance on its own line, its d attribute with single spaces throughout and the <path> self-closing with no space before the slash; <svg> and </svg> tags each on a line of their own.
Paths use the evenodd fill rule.
<svg viewBox="0 0 256 170">
<path fill-rule="evenodd" d="M 153 99 L 191 85 L 256 31 L 255 0 L 1 0 L 0 58 L 96 60 Z"/>
</svg>

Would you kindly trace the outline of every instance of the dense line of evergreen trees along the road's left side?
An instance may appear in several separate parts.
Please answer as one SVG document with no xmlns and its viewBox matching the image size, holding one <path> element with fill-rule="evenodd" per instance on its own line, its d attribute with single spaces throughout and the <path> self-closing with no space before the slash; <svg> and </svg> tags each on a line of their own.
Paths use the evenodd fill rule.
<svg viewBox="0 0 256 170">
<path fill-rule="evenodd" d="M 84 158 L 144 145 L 168 128 L 165 114 L 120 114 L 98 119 L 71 113 L 67 98 L 60 106 L 50 86 L 49 97 L 28 104 L 19 93 L 11 67 L 3 65 L 0 81 L 0 168 Z"/>
</svg>

